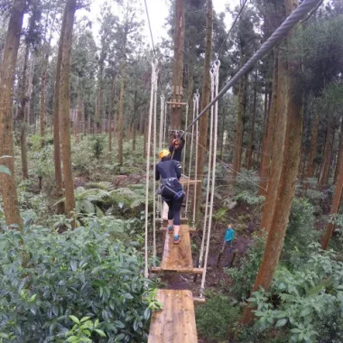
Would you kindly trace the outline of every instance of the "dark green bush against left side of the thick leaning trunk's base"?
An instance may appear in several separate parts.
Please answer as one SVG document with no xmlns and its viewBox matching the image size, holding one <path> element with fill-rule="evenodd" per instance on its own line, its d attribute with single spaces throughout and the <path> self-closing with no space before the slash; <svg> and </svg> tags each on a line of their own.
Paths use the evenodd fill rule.
<svg viewBox="0 0 343 343">
<path fill-rule="evenodd" d="M 229 292 L 236 299 L 246 299 L 255 283 L 255 278 L 264 255 L 265 236 L 253 236 L 253 242 L 249 246 L 246 256 L 240 260 L 240 266 L 227 269 L 227 273 L 232 277 L 233 286 Z"/>
</svg>

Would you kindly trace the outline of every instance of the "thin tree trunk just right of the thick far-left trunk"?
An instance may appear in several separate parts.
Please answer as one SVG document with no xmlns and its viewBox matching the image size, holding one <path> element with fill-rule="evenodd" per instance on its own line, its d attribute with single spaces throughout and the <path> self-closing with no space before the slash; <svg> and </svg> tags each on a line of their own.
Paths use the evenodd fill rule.
<svg viewBox="0 0 343 343">
<path fill-rule="evenodd" d="M 26 42 L 25 53 L 23 59 L 23 79 L 20 85 L 20 107 L 18 111 L 18 120 L 20 123 L 20 146 L 22 154 L 22 175 L 23 180 L 29 178 L 28 164 L 27 164 L 27 142 L 26 142 L 26 123 L 25 123 L 25 108 L 28 101 L 26 95 L 26 80 L 27 80 L 27 64 L 29 60 L 29 43 Z"/>
</svg>

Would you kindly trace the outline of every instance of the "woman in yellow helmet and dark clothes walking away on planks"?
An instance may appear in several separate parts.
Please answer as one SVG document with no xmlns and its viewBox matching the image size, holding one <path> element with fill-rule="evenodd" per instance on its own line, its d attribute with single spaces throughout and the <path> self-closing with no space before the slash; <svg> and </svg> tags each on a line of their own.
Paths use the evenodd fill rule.
<svg viewBox="0 0 343 343">
<path fill-rule="evenodd" d="M 174 231 L 174 244 L 180 243 L 180 214 L 184 192 L 180 183 L 181 168 L 178 162 L 172 160 L 168 150 L 160 152 L 161 162 L 156 164 L 156 181 L 161 179 L 161 196 L 167 203 L 168 210 L 168 233 Z"/>
</svg>

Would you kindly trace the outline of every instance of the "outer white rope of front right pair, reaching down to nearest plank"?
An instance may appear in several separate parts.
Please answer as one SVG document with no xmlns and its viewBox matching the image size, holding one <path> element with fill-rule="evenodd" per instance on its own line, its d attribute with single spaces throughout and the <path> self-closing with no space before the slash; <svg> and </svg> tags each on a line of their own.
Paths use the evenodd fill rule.
<svg viewBox="0 0 343 343">
<path fill-rule="evenodd" d="M 215 97 L 218 96 L 219 90 L 219 67 L 220 61 L 216 60 L 213 69 L 215 74 Z M 211 187 L 211 200 L 210 200 L 210 207 L 209 207 L 209 228 L 208 228 L 208 236 L 207 236 L 207 244 L 206 244 L 206 252 L 205 252 L 205 263 L 204 263 L 204 273 L 202 273 L 201 285 L 200 285 L 200 297 L 203 296 L 203 292 L 205 289 L 205 281 L 206 281 L 206 273 L 207 273 L 207 266 L 208 266 L 208 259 L 209 259 L 209 238 L 211 234 L 211 227 L 212 227 L 212 214 L 213 214 L 213 200 L 214 200 L 214 192 L 215 192 L 215 184 L 216 184 L 216 154 L 217 154 L 217 142 L 218 142 L 218 102 L 214 108 L 214 143 L 213 143 L 213 158 L 212 158 L 212 187 Z M 209 152 L 211 153 L 211 152 Z"/>
</svg>

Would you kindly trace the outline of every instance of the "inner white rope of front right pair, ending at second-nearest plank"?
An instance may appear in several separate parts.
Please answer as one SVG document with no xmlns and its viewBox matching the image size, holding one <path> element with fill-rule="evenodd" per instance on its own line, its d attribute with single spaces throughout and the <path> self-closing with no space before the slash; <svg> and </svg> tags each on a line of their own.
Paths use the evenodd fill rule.
<svg viewBox="0 0 343 343">
<path fill-rule="evenodd" d="M 211 100 L 214 98 L 214 88 L 215 88 L 215 74 L 214 70 L 209 70 L 210 79 L 211 79 Z M 211 107 L 210 111 L 210 124 L 209 124 L 209 164 L 208 164 L 208 180 L 207 180 L 207 187 L 206 187 L 206 206 L 205 206 L 205 218 L 204 218 L 204 227 L 202 230 L 202 239 L 201 239 L 201 247 L 200 247 L 200 254 L 199 254 L 199 268 L 202 267 L 202 261 L 204 259 L 204 250 L 205 250 L 205 237 L 206 237 L 206 230 L 208 225 L 208 214 L 209 214 L 209 185 L 210 185 L 210 175 L 211 175 L 211 167 L 212 167 L 212 144 L 213 144 L 213 112 L 214 107 Z"/>
</svg>

